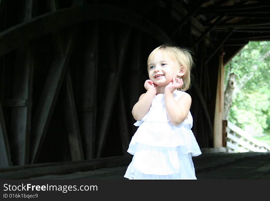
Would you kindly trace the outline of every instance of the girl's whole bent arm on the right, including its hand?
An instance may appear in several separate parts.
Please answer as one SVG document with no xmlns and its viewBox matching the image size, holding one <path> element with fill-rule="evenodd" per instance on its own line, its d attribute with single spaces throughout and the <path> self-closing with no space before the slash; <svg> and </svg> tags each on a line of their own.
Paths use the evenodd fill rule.
<svg viewBox="0 0 270 201">
<path fill-rule="evenodd" d="M 178 82 L 176 82 L 176 80 Z M 164 101 L 167 115 L 172 125 L 182 123 L 188 115 L 191 106 L 191 96 L 184 93 L 181 98 L 176 102 L 173 96 L 173 91 L 183 86 L 183 80 L 176 78 L 169 83 L 164 90 Z"/>
</svg>

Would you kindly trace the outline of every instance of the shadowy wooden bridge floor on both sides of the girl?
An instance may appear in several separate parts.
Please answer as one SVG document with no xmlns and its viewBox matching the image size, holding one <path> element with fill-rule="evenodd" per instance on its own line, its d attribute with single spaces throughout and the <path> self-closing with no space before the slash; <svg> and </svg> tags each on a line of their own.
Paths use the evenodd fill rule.
<svg viewBox="0 0 270 201">
<path fill-rule="evenodd" d="M 193 157 L 198 180 L 270 179 L 270 153 L 210 153 Z M 112 179 L 124 180 L 127 166 L 103 168 L 30 179 Z"/>
</svg>

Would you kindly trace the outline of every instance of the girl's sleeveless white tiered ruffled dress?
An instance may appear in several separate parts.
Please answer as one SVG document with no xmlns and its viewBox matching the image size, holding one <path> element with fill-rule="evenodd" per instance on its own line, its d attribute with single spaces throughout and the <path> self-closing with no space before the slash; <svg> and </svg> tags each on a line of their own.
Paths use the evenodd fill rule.
<svg viewBox="0 0 270 201">
<path fill-rule="evenodd" d="M 185 93 L 175 90 L 176 101 Z M 125 178 L 128 179 L 197 179 L 192 156 L 202 154 L 191 131 L 193 119 L 188 113 L 179 125 L 172 125 L 166 113 L 164 94 L 157 94 L 149 112 L 134 125 L 138 126 L 129 143 L 134 155 Z"/>
</svg>

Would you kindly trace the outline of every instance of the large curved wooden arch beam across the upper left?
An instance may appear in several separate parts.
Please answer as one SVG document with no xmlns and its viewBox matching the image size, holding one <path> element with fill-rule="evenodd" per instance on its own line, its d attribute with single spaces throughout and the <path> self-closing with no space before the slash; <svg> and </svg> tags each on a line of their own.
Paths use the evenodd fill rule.
<svg viewBox="0 0 270 201">
<path fill-rule="evenodd" d="M 23 44 L 29 43 L 30 40 L 39 38 L 55 30 L 98 19 L 113 20 L 128 24 L 133 28 L 152 35 L 160 43 L 172 43 L 172 40 L 161 28 L 129 10 L 110 5 L 91 4 L 46 13 L 0 32 L 0 56 Z"/>
</svg>

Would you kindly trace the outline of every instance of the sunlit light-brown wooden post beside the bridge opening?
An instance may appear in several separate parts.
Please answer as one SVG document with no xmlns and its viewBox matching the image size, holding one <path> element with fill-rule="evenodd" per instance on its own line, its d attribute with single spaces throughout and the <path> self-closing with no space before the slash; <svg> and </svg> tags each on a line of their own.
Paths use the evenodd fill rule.
<svg viewBox="0 0 270 201">
<path fill-rule="evenodd" d="M 222 147 L 222 110 L 224 105 L 224 66 L 223 49 L 219 56 L 218 83 L 214 116 L 214 147 Z"/>
</svg>

